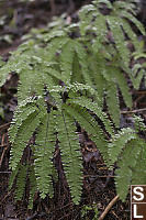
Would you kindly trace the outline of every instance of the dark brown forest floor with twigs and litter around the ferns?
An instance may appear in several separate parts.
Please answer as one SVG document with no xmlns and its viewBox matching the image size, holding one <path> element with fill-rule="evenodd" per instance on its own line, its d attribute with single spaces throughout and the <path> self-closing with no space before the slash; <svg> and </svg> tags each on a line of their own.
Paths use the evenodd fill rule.
<svg viewBox="0 0 146 220">
<path fill-rule="evenodd" d="M 74 20 L 78 9 L 88 2 L 90 0 L 58 0 L 50 6 L 45 0 L 0 1 L 0 55 L 3 61 L 9 58 L 10 52 L 16 50 L 23 42 L 22 36 L 32 28 L 43 28 L 54 15 L 60 15 L 64 12 Z M 8 128 L 16 107 L 16 86 L 18 76 L 13 75 L 2 87 L 0 95 L 0 220 L 91 220 L 94 219 L 97 210 L 100 216 L 109 202 L 116 197 L 114 173 L 108 170 L 99 151 L 83 131 L 80 132 L 83 157 L 83 190 L 80 205 L 75 206 L 71 202 L 64 179 L 55 184 L 53 199 L 42 200 L 36 195 L 33 210 L 27 210 L 25 198 L 15 204 L 13 189 L 8 190 L 11 173 Z M 146 90 L 133 91 L 133 99 L 136 111 L 146 108 Z M 130 116 L 126 113 L 123 116 L 123 123 L 128 123 Z M 143 111 L 142 116 L 146 120 L 146 111 Z M 125 202 L 116 200 L 104 220 L 130 220 L 130 196 Z M 81 217 L 83 211 L 86 215 Z"/>
</svg>

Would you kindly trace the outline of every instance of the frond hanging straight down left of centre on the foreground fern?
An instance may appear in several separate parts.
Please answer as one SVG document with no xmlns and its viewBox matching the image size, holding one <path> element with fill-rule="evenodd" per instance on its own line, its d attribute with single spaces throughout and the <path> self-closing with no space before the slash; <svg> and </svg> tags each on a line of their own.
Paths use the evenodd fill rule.
<svg viewBox="0 0 146 220">
<path fill-rule="evenodd" d="M 48 194 L 53 197 L 52 169 L 53 154 L 55 151 L 56 134 L 54 131 L 55 116 L 53 111 L 45 114 L 37 128 L 34 145 L 34 169 L 36 175 L 37 188 L 41 197 L 45 198 Z"/>
</svg>

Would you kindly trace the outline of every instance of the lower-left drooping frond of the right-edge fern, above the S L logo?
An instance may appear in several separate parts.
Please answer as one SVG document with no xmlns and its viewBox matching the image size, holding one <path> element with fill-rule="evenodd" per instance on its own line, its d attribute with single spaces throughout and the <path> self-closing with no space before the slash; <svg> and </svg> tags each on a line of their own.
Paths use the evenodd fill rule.
<svg viewBox="0 0 146 220">
<path fill-rule="evenodd" d="M 138 138 L 128 141 L 121 160 L 117 162 L 119 168 L 115 172 L 115 186 L 122 201 L 125 201 L 125 198 L 128 194 L 130 185 L 134 183 L 133 178 L 135 177 L 135 168 L 137 165 L 137 160 L 141 155 L 142 147 L 144 147 L 143 144 L 143 140 Z M 141 160 L 138 162 L 141 163 Z M 145 162 L 143 161 L 142 163 Z M 139 174 L 138 177 L 141 178 Z M 139 178 L 138 182 L 136 182 L 135 184 L 139 184 Z"/>
</svg>

